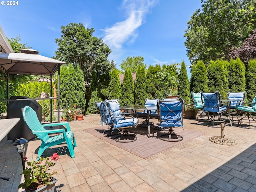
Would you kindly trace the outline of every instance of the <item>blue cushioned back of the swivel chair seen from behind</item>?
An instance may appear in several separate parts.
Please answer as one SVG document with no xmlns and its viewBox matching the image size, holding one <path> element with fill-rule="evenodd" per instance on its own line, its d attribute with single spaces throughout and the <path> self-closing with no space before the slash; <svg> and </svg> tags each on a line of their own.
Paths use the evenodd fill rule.
<svg viewBox="0 0 256 192">
<path fill-rule="evenodd" d="M 182 100 L 160 101 L 160 122 L 163 127 L 182 126 Z"/>
</svg>

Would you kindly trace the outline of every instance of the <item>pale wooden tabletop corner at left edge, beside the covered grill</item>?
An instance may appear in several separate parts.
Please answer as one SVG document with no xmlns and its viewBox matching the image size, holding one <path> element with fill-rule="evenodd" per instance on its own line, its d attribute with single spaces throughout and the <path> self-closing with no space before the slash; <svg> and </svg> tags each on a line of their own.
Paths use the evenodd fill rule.
<svg viewBox="0 0 256 192">
<path fill-rule="evenodd" d="M 0 120 L 0 141 L 12 130 L 19 122 L 20 118 L 1 119 Z"/>
</svg>

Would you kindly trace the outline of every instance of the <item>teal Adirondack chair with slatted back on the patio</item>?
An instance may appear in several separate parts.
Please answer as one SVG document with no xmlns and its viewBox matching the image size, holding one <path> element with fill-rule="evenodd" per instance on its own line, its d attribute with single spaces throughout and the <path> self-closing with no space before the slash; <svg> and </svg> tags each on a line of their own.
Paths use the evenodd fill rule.
<svg viewBox="0 0 256 192">
<path fill-rule="evenodd" d="M 36 115 L 36 112 L 30 107 L 26 106 L 23 110 L 23 118 L 25 122 L 28 124 L 28 127 L 32 130 L 33 134 L 36 134 L 38 138 L 42 141 L 42 144 L 38 150 L 38 158 L 37 161 L 40 159 L 40 156 L 46 150 L 48 147 L 55 146 L 58 144 L 61 144 L 63 142 L 66 142 L 68 145 L 68 149 L 70 152 L 70 156 L 72 158 L 75 157 L 74 149 L 72 145 L 72 140 L 74 143 L 74 146 L 76 147 L 76 140 L 74 137 L 74 133 L 70 131 L 70 126 L 68 122 L 61 122 L 61 123 L 50 123 L 50 124 L 44 124 L 42 125 L 38 117 Z M 67 127 L 67 132 L 65 132 L 65 129 L 54 129 L 54 130 L 46 130 L 44 127 L 46 126 L 58 126 L 58 125 L 64 125 Z M 56 136 L 49 137 L 48 134 L 51 133 L 62 133 L 58 134 Z"/>
</svg>

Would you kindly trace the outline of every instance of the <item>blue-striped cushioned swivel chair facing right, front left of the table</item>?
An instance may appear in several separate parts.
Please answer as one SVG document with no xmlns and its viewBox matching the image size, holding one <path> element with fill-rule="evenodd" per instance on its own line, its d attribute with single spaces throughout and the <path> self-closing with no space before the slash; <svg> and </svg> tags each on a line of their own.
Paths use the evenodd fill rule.
<svg viewBox="0 0 256 192">
<path fill-rule="evenodd" d="M 118 104 L 114 101 L 106 102 L 108 106 L 108 111 L 110 114 L 110 118 L 112 120 L 112 132 L 114 130 L 118 130 L 121 132 L 120 136 L 114 138 L 117 142 L 132 142 L 136 141 L 137 137 L 135 134 L 130 134 L 128 132 L 129 128 L 136 128 L 138 124 L 138 118 L 134 118 L 134 116 L 122 116 L 121 110 Z"/>
</svg>

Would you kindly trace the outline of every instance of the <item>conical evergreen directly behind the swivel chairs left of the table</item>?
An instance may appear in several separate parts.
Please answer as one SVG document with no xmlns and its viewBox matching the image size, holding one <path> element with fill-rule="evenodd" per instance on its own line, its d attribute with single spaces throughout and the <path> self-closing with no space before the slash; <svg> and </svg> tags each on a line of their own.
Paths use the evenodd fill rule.
<svg viewBox="0 0 256 192">
<path fill-rule="evenodd" d="M 108 99 L 119 99 L 122 95 L 120 78 L 115 69 L 111 72 L 110 83 L 107 90 Z"/>
</svg>

